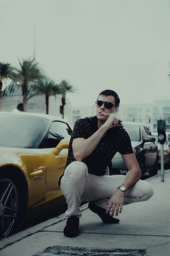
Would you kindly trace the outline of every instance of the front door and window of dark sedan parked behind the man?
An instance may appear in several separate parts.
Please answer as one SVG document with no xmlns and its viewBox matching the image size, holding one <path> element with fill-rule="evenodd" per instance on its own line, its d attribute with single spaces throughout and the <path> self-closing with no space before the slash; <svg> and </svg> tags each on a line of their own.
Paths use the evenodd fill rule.
<svg viewBox="0 0 170 256">
<path fill-rule="evenodd" d="M 147 134 L 144 126 L 142 126 L 142 140 L 146 139 L 147 135 L 148 134 Z M 148 169 L 150 169 L 150 166 L 152 165 L 152 148 L 151 148 L 150 142 L 144 143 L 143 152 L 144 152 L 144 156 L 145 156 L 145 169 L 148 170 Z"/>
</svg>

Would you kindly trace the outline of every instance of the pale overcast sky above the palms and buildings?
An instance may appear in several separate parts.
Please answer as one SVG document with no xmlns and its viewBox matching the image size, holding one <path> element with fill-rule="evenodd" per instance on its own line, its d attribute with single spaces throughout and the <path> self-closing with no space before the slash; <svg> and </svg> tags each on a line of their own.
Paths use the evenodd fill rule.
<svg viewBox="0 0 170 256">
<path fill-rule="evenodd" d="M 120 104 L 170 99 L 169 0 L 0 0 L 0 61 L 33 56 L 77 89 L 73 106 L 112 89 Z M 121 105 L 120 105 L 121 106 Z"/>
</svg>

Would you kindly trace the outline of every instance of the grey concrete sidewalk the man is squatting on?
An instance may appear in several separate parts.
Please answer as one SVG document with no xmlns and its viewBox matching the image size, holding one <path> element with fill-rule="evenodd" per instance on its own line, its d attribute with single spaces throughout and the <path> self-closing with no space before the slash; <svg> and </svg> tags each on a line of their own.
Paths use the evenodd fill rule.
<svg viewBox="0 0 170 256">
<path fill-rule="evenodd" d="M 0 241 L 0 255 L 170 256 L 170 171 L 165 170 L 164 182 L 158 175 L 146 181 L 153 186 L 153 197 L 147 202 L 123 206 L 122 213 L 118 215 L 119 224 L 104 224 L 85 204 L 81 206 L 78 237 L 64 236 L 66 220 L 62 214 Z M 59 246 L 63 248 L 63 251 L 60 248 L 60 253 Z M 79 247 L 77 254 L 73 253 L 75 247 Z M 91 254 L 92 249 L 89 248 L 101 250 L 96 249 Z M 112 250 L 107 254 L 106 249 L 123 250 Z"/>
</svg>

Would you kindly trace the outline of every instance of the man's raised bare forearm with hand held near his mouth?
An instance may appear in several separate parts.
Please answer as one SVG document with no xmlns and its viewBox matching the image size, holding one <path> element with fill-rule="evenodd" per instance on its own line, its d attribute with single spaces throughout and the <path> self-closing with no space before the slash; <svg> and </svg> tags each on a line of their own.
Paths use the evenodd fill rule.
<svg viewBox="0 0 170 256">
<path fill-rule="evenodd" d="M 115 120 L 115 124 L 113 124 Z M 94 148 L 97 146 L 105 132 L 112 127 L 117 127 L 121 119 L 117 118 L 113 113 L 110 114 L 106 122 L 88 139 L 77 138 L 73 140 L 72 148 L 73 155 L 77 161 L 82 161 L 87 156 L 89 156 Z"/>
</svg>

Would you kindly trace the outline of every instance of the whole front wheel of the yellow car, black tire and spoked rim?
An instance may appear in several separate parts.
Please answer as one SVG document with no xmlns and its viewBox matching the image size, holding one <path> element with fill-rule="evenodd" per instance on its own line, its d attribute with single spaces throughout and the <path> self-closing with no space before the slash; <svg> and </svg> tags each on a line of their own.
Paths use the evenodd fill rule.
<svg viewBox="0 0 170 256">
<path fill-rule="evenodd" d="M 20 176 L 11 170 L 0 172 L 0 240 L 20 228 L 25 194 Z"/>
</svg>

